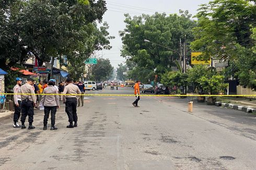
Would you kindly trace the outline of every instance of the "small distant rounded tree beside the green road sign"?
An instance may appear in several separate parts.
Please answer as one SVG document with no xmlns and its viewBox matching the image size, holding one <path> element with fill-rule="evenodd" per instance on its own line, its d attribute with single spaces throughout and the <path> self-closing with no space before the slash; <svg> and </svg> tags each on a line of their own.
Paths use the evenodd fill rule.
<svg viewBox="0 0 256 170">
<path fill-rule="evenodd" d="M 113 69 L 109 59 L 98 58 L 98 64 L 92 66 L 91 74 L 95 81 L 105 81 L 111 77 Z"/>
</svg>

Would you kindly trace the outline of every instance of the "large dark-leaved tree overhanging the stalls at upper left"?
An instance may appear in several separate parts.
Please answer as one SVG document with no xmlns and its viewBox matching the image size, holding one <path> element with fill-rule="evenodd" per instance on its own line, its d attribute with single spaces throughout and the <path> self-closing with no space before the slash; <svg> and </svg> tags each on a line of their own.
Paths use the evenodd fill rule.
<svg viewBox="0 0 256 170">
<path fill-rule="evenodd" d="M 30 52 L 39 66 L 54 57 L 62 62 L 65 55 L 70 74 L 80 76 L 81 64 L 93 51 L 111 48 L 107 23 L 100 28 L 96 23 L 107 10 L 104 0 L 11 0 L 0 8 L 3 69 L 25 63 Z"/>
</svg>

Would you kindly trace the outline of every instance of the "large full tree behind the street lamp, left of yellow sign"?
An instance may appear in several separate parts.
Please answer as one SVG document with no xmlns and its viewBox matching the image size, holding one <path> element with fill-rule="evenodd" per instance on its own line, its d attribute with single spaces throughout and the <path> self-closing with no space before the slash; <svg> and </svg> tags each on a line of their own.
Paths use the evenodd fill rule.
<svg viewBox="0 0 256 170">
<path fill-rule="evenodd" d="M 188 44 L 193 40 L 192 28 L 196 22 L 190 19 L 188 11 L 180 11 L 180 14 L 167 16 L 156 13 L 134 18 L 125 14 L 126 28 L 120 31 L 123 42 L 122 56 L 137 64 L 137 71 L 143 79 L 154 76 L 155 68 L 155 75 L 170 71 L 171 66 L 176 66 L 174 61 L 181 59 L 179 53 L 154 43 L 180 51 L 180 39 L 183 42 L 187 35 Z M 144 42 L 145 39 L 154 43 Z"/>
</svg>

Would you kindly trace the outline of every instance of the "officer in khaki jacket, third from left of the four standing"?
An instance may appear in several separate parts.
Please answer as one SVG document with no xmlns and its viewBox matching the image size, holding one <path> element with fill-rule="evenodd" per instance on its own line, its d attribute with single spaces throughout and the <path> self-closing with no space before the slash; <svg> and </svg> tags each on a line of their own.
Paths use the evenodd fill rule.
<svg viewBox="0 0 256 170">
<path fill-rule="evenodd" d="M 49 114 L 51 112 L 51 130 L 57 130 L 55 127 L 55 114 L 57 108 L 60 108 L 59 91 L 54 87 L 55 82 L 49 80 L 48 87 L 43 90 L 43 94 L 55 94 L 55 95 L 43 95 L 40 101 L 40 105 L 44 106 L 44 118 L 43 118 L 43 130 L 47 129 L 47 123 Z"/>
</svg>

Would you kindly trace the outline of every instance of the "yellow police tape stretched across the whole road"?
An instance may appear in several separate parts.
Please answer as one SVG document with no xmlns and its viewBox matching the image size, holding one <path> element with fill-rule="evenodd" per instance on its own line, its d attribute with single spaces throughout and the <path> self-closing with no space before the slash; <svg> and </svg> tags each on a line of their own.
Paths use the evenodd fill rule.
<svg viewBox="0 0 256 170">
<path fill-rule="evenodd" d="M 0 95 L 84 95 L 84 96 L 134 96 L 135 94 L 33 94 L 33 93 L 0 93 Z M 210 94 L 140 94 L 140 96 L 224 96 L 224 97 L 250 97 L 250 96 L 256 96 L 255 94 L 250 95 L 240 95 L 240 94 L 234 94 L 234 95 L 225 95 L 225 94 L 216 94 L 216 95 L 210 95 Z"/>
</svg>

